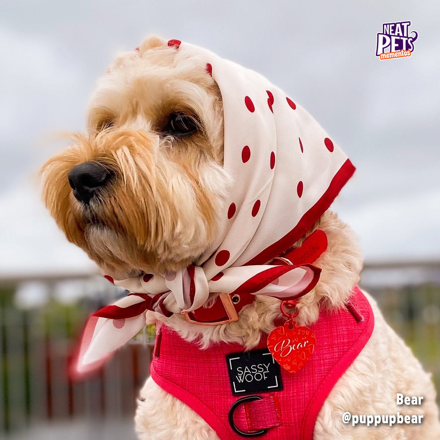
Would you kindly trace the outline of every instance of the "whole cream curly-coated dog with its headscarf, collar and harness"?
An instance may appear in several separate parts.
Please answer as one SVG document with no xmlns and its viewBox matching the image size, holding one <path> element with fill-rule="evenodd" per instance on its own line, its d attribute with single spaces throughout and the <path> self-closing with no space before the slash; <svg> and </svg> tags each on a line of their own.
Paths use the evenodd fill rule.
<svg viewBox="0 0 440 440">
<path fill-rule="evenodd" d="M 75 372 L 157 323 L 141 440 L 440 438 L 430 375 L 356 287 L 329 209 L 354 166 L 293 99 L 149 37 L 99 80 L 87 130 L 43 198 L 130 292 L 90 318 Z"/>
</svg>

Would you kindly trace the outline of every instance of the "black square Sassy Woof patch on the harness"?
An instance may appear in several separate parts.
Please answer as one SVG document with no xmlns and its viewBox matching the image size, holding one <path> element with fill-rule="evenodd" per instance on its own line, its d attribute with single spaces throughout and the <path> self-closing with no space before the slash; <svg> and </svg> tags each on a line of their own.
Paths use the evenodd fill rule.
<svg viewBox="0 0 440 440">
<path fill-rule="evenodd" d="M 226 363 L 234 396 L 283 389 L 280 366 L 267 349 L 226 355 Z"/>
</svg>

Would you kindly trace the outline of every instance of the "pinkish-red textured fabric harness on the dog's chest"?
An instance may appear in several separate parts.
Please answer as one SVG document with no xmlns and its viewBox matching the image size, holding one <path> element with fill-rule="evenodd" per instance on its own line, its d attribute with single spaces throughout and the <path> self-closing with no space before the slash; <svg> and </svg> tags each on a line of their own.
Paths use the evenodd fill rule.
<svg viewBox="0 0 440 440">
<path fill-rule="evenodd" d="M 266 430 L 261 439 L 312 439 L 316 417 L 338 379 L 371 336 L 374 316 L 367 298 L 355 286 L 346 308 L 322 311 L 309 326 L 316 347 L 305 367 L 291 374 L 281 368 L 283 390 L 259 392 L 261 400 L 238 404 L 233 425 L 242 432 Z M 256 349 L 267 348 L 261 335 Z M 214 344 L 206 350 L 183 340 L 162 325 L 156 337 L 152 379 L 197 412 L 221 440 L 241 439 L 228 422 L 232 395 L 226 355 L 244 352 L 239 344 Z M 252 400 L 251 396 L 248 396 Z"/>
</svg>

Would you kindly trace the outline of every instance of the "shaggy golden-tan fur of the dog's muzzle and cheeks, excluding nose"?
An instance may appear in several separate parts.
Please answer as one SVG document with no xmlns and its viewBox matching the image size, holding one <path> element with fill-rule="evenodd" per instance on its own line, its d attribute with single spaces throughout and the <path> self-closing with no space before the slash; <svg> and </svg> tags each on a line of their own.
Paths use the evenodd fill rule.
<svg viewBox="0 0 440 440">
<path fill-rule="evenodd" d="M 177 270 L 212 242 L 228 179 L 202 148 L 195 146 L 199 155 L 190 161 L 185 156 L 193 152 L 171 149 L 147 132 L 114 130 L 75 140 L 45 164 L 43 197 L 67 238 L 104 270 Z M 70 170 L 85 161 L 103 164 L 112 175 L 88 204 L 74 198 L 68 183 Z"/>
</svg>

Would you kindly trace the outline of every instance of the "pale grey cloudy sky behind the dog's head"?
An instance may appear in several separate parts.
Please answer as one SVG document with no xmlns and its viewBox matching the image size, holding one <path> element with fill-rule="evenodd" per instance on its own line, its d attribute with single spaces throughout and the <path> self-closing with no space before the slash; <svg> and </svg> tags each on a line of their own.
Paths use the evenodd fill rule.
<svg viewBox="0 0 440 440">
<path fill-rule="evenodd" d="M 0 276 L 85 271 L 45 212 L 37 173 L 81 130 L 95 80 L 149 34 L 204 46 L 267 76 L 357 166 L 334 209 L 367 261 L 440 260 L 440 3 L 2 1 Z M 380 61 L 382 23 L 411 21 L 411 57 Z"/>
</svg>

